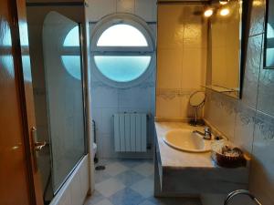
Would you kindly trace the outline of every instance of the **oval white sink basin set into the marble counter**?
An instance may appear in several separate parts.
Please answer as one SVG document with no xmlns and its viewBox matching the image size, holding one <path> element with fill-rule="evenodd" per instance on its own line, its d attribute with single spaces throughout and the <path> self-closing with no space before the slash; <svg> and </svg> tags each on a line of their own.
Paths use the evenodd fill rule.
<svg viewBox="0 0 274 205">
<path fill-rule="evenodd" d="M 166 133 L 164 142 L 174 149 L 188 152 L 208 152 L 211 150 L 211 140 L 191 129 L 173 129 Z"/>
</svg>

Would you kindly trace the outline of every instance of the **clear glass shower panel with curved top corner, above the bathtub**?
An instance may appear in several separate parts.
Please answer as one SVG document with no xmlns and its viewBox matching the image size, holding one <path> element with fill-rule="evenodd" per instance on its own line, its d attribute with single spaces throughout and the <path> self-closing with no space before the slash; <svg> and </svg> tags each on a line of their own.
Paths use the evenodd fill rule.
<svg viewBox="0 0 274 205">
<path fill-rule="evenodd" d="M 79 24 L 57 12 L 47 14 L 43 25 L 43 54 L 55 193 L 85 154 L 79 36 Z"/>
</svg>

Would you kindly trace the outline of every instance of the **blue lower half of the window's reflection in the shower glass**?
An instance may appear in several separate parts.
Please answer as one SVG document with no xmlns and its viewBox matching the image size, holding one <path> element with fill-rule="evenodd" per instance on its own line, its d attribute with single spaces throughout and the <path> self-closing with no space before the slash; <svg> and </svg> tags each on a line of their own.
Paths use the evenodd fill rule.
<svg viewBox="0 0 274 205">
<path fill-rule="evenodd" d="M 62 56 L 62 62 L 72 77 L 81 79 L 80 56 Z"/>
</svg>

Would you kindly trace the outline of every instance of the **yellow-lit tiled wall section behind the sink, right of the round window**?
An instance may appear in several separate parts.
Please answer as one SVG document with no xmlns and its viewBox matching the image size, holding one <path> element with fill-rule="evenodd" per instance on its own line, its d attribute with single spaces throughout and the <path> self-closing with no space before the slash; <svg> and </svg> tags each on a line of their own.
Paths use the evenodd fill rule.
<svg viewBox="0 0 274 205">
<path fill-rule="evenodd" d="M 156 117 L 187 118 L 205 85 L 207 22 L 202 5 L 158 5 Z"/>
</svg>

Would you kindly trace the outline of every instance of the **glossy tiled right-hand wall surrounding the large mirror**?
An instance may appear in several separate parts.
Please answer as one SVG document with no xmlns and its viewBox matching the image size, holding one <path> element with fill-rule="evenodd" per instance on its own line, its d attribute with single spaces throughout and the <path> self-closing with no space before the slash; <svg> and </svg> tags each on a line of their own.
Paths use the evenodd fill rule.
<svg viewBox="0 0 274 205">
<path fill-rule="evenodd" d="M 272 205 L 274 70 L 262 67 L 265 0 L 253 2 L 243 97 L 237 100 L 207 90 L 205 119 L 251 153 L 249 190 L 262 204 Z"/>
</svg>

